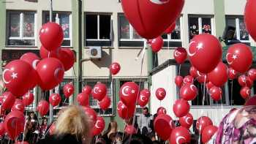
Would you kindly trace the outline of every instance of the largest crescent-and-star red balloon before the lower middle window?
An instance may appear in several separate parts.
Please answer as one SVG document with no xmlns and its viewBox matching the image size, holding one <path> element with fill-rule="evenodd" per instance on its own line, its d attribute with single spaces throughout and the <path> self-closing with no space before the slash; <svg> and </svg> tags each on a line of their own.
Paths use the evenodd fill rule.
<svg viewBox="0 0 256 144">
<path fill-rule="evenodd" d="M 119 90 L 119 96 L 124 105 L 132 106 L 135 105 L 138 97 L 139 86 L 134 82 L 127 82 L 121 86 Z"/>
</svg>

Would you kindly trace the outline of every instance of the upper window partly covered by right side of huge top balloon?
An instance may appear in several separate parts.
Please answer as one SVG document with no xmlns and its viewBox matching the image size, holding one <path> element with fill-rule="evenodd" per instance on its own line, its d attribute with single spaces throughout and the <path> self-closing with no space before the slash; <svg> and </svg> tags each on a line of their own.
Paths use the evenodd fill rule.
<svg viewBox="0 0 256 144">
<path fill-rule="evenodd" d="M 176 20 L 176 27 L 171 34 L 162 35 L 164 47 L 181 47 L 181 18 Z"/>
</svg>

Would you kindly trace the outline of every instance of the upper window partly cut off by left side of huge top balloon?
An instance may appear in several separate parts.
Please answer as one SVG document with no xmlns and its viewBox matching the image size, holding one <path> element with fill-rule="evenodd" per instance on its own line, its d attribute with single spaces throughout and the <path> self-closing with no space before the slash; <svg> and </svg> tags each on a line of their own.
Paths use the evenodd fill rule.
<svg viewBox="0 0 256 144">
<path fill-rule="evenodd" d="M 143 47 L 144 40 L 132 28 L 124 14 L 118 16 L 119 20 L 119 47 Z"/>
</svg>

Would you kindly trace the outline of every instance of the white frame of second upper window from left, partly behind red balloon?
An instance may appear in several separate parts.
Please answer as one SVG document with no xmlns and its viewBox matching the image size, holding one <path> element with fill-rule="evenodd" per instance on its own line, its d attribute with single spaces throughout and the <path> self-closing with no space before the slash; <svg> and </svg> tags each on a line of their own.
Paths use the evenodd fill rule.
<svg viewBox="0 0 256 144">
<path fill-rule="evenodd" d="M 43 11 L 42 12 L 42 15 L 44 15 L 42 18 L 45 18 L 46 20 L 46 16 L 50 14 L 49 11 Z M 67 40 L 70 42 L 70 45 L 67 45 L 67 46 L 64 46 L 64 45 L 61 45 L 62 48 L 72 48 L 72 12 L 59 12 L 59 11 L 54 11 L 53 12 L 53 15 L 56 15 L 55 18 L 53 18 L 53 22 L 55 23 L 60 23 L 60 17 L 59 15 L 61 14 L 65 14 L 65 15 L 69 15 L 69 38 L 64 38 L 63 41 Z M 50 17 L 50 15 L 49 15 Z M 42 20 L 42 24 L 43 23 L 47 23 L 47 21 L 45 20 Z"/>
</svg>

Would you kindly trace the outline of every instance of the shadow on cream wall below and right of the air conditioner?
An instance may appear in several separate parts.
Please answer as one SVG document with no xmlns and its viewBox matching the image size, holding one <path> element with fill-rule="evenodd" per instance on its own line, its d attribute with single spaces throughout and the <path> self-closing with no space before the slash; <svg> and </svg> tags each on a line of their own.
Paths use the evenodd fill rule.
<svg viewBox="0 0 256 144">
<path fill-rule="evenodd" d="M 102 58 L 100 59 L 93 59 L 91 60 L 97 67 L 109 67 L 112 63 L 112 50 L 109 50 L 109 54 L 105 52 L 105 50 L 102 50 Z"/>
</svg>

